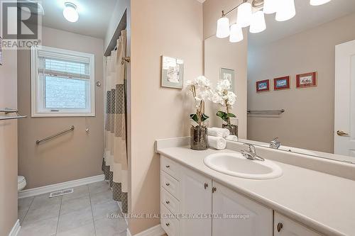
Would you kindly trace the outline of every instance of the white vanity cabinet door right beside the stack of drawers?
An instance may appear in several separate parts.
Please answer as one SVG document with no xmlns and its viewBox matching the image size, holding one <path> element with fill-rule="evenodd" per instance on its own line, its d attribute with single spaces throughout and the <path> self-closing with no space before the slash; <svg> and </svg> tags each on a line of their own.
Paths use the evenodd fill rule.
<svg viewBox="0 0 355 236">
<path fill-rule="evenodd" d="M 211 236 L 212 179 L 182 167 L 180 236 Z"/>
</svg>

